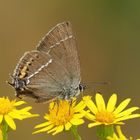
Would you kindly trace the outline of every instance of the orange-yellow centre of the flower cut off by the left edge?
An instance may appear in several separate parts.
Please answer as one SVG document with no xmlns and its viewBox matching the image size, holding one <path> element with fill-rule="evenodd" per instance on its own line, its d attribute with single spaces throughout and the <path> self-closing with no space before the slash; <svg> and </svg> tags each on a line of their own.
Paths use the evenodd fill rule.
<svg viewBox="0 0 140 140">
<path fill-rule="evenodd" d="M 0 98 L 0 115 L 7 114 L 14 108 L 15 101 L 11 101 L 8 98 Z"/>
</svg>

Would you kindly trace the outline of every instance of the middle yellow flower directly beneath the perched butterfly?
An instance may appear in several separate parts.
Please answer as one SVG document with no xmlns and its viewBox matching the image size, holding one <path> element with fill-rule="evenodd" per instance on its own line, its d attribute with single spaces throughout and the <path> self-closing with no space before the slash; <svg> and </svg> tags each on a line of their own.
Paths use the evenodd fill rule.
<svg viewBox="0 0 140 140">
<path fill-rule="evenodd" d="M 76 100 L 72 102 L 60 100 L 59 102 L 51 102 L 49 105 L 49 113 L 44 116 L 46 122 L 36 125 L 35 128 L 41 128 L 33 132 L 47 132 L 55 135 L 63 130 L 69 130 L 73 125 L 81 125 L 84 123 L 82 119 L 85 115 L 85 103 L 81 101 L 76 105 Z"/>
</svg>

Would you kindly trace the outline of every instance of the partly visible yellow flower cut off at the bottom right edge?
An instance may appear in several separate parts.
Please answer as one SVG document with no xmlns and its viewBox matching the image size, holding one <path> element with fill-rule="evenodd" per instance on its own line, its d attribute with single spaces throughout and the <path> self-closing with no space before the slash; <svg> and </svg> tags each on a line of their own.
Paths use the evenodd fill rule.
<svg viewBox="0 0 140 140">
<path fill-rule="evenodd" d="M 124 134 L 122 133 L 121 127 L 119 125 L 116 126 L 116 131 L 117 131 L 117 134 L 114 133 L 112 137 L 108 136 L 107 140 L 132 140 L 133 139 L 132 137 L 126 138 L 124 136 Z M 137 139 L 137 140 L 139 140 L 139 139 Z"/>
</svg>

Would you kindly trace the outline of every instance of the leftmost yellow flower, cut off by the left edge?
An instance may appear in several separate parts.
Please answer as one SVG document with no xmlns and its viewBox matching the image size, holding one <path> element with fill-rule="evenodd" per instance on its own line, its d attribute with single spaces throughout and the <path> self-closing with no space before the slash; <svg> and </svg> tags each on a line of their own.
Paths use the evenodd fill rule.
<svg viewBox="0 0 140 140">
<path fill-rule="evenodd" d="M 38 116 L 37 114 L 31 114 L 29 110 L 32 109 L 31 106 L 25 107 L 23 109 L 17 109 L 17 106 L 25 104 L 24 101 L 12 100 L 10 101 L 8 97 L 0 98 L 0 124 L 6 122 L 10 128 L 16 129 L 16 124 L 14 119 L 23 120 L 25 118 L 30 118 Z"/>
</svg>

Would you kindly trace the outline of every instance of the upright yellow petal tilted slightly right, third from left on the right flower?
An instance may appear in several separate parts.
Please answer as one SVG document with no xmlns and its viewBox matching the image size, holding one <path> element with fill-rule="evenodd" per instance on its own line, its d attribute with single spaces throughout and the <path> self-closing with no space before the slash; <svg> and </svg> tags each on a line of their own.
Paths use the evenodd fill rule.
<svg viewBox="0 0 140 140">
<path fill-rule="evenodd" d="M 107 103 L 107 111 L 112 112 L 115 109 L 116 102 L 117 102 L 117 95 L 113 94 Z"/>
</svg>

